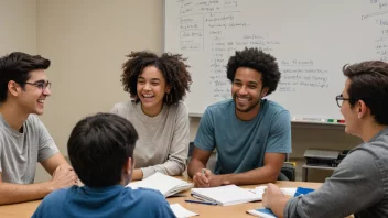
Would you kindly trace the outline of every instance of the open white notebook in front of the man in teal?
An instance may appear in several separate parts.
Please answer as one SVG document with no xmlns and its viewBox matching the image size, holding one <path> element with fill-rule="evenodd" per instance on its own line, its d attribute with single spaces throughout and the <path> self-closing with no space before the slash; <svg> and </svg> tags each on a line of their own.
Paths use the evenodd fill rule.
<svg viewBox="0 0 388 218">
<path fill-rule="evenodd" d="M 215 201 L 222 206 L 237 205 L 261 199 L 261 196 L 236 185 L 212 188 L 192 188 L 192 195 L 198 196 L 205 200 Z"/>
</svg>

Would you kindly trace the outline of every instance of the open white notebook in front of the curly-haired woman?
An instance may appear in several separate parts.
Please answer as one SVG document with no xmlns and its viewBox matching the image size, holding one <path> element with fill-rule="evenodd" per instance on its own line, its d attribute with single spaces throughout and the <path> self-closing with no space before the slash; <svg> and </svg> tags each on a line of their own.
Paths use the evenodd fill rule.
<svg viewBox="0 0 388 218">
<path fill-rule="evenodd" d="M 169 197 L 182 190 L 190 189 L 193 187 L 193 184 L 158 172 L 146 179 L 129 183 L 127 187 L 157 189 L 161 192 L 164 197 Z"/>
</svg>

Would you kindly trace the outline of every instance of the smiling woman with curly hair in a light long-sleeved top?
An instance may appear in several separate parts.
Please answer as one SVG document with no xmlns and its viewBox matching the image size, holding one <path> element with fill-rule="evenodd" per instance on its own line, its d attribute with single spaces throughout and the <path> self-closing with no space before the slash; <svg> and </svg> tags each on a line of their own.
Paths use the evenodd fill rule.
<svg viewBox="0 0 388 218">
<path fill-rule="evenodd" d="M 121 83 L 131 101 L 114 106 L 112 113 L 131 121 L 139 133 L 132 179 L 160 172 L 181 175 L 188 153 L 188 113 L 181 102 L 192 78 L 180 54 L 132 52 L 122 65 Z"/>
</svg>

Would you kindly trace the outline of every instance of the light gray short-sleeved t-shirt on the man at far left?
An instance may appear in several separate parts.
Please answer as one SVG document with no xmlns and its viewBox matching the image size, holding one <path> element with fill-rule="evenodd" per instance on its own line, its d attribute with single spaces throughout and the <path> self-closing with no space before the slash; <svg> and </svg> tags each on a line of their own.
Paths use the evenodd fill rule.
<svg viewBox="0 0 388 218">
<path fill-rule="evenodd" d="M 34 183 L 36 163 L 56 153 L 58 149 L 37 116 L 29 116 L 21 133 L 12 129 L 0 113 L 0 172 L 3 182 Z"/>
</svg>

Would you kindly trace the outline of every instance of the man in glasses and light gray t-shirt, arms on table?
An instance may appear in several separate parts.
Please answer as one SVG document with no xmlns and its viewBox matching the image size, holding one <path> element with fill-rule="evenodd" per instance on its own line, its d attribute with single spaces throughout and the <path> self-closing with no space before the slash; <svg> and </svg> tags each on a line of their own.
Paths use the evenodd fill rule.
<svg viewBox="0 0 388 218">
<path fill-rule="evenodd" d="M 0 58 L 0 205 L 40 199 L 77 184 L 36 115 L 44 112 L 50 61 L 14 52 Z M 53 177 L 34 184 L 36 163 Z"/>
</svg>

